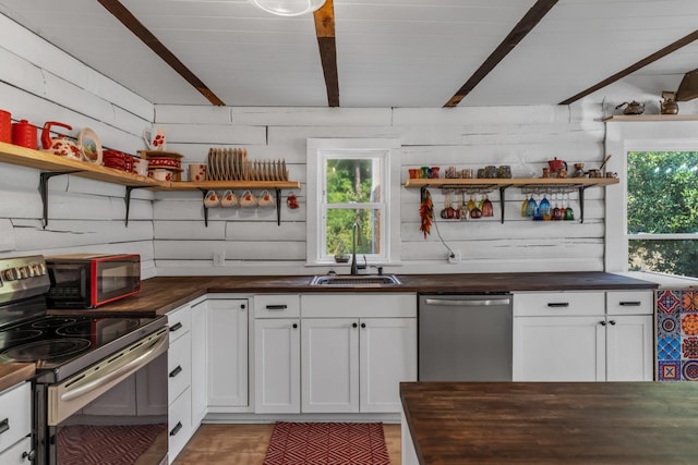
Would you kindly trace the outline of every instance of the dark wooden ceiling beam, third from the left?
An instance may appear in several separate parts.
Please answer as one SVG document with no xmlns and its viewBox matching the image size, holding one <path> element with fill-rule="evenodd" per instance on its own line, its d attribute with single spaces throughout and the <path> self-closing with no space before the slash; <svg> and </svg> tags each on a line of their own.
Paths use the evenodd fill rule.
<svg viewBox="0 0 698 465">
<path fill-rule="evenodd" d="M 514 47 L 516 47 L 530 33 L 533 27 L 547 14 L 557 3 L 557 0 L 538 0 L 533 7 L 514 26 L 512 32 L 504 38 L 502 44 L 488 57 L 480 68 L 472 73 L 472 76 L 458 89 L 458 91 L 444 105 L 444 108 L 456 107 L 466 98 L 470 91 L 500 64 Z"/>
</svg>

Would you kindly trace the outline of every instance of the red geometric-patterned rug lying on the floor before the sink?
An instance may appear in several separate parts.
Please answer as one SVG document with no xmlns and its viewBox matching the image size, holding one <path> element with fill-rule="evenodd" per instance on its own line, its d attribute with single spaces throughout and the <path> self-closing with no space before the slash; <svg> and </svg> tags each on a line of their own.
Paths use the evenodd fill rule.
<svg viewBox="0 0 698 465">
<path fill-rule="evenodd" d="M 286 423 L 274 426 L 264 465 L 388 465 L 381 423 Z"/>
</svg>

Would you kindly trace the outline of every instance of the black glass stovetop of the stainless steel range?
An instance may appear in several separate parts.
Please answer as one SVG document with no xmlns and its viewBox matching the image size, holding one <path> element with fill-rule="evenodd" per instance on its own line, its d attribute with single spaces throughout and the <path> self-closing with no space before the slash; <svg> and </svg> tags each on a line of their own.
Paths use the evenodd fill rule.
<svg viewBox="0 0 698 465">
<path fill-rule="evenodd" d="M 43 316 L 0 330 L 0 363 L 56 368 L 152 323 L 156 318 Z"/>
</svg>

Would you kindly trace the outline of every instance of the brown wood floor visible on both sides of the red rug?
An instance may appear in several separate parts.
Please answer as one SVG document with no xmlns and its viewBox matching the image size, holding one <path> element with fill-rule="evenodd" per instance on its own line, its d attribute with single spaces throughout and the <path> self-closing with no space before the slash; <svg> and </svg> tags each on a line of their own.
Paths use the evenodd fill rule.
<svg viewBox="0 0 698 465">
<path fill-rule="evenodd" d="M 174 465 L 262 465 L 274 425 L 202 425 Z M 400 425 L 383 425 L 392 465 L 400 465 Z"/>
</svg>

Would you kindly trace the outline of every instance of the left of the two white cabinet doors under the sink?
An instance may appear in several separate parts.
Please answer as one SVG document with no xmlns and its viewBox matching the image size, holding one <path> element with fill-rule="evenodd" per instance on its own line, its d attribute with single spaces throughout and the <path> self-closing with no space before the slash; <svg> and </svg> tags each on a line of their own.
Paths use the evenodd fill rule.
<svg viewBox="0 0 698 465">
<path fill-rule="evenodd" d="M 359 412 L 357 319 L 303 319 L 301 382 L 302 412 Z"/>
</svg>

